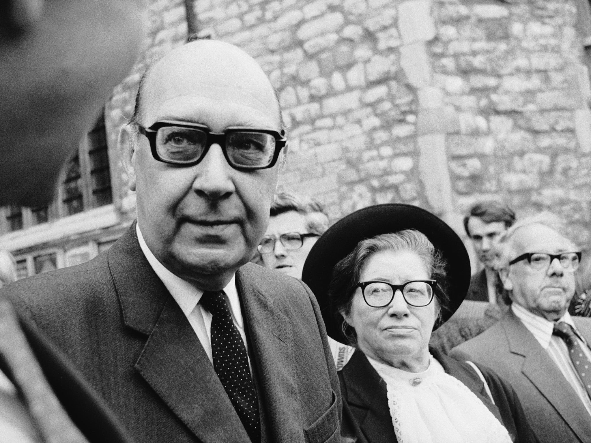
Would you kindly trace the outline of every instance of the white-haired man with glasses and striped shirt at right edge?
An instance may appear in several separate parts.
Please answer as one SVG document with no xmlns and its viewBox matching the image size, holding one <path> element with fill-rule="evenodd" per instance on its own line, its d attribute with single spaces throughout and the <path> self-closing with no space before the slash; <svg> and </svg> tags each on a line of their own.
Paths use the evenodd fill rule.
<svg viewBox="0 0 591 443">
<path fill-rule="evenodd" d="M 540 214 L 502 234 L 496 254 L 511 308 L 451 355 L 511 382 L 540 442 L 591 442 L 591 319 L 567 312 L 580 250 Z"/>
</svg>

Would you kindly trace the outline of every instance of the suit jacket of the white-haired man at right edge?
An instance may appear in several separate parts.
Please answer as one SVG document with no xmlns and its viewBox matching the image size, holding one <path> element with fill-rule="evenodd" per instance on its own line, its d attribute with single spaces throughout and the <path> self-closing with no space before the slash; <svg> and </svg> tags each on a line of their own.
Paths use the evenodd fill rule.
<svg viewBox="0 0 591 443">
<path fill-rule="evenodd" d="M 573 321 L 589 343 L 591 319 L 573 317 Z M 450 355 L 484 364 L 511 383 L 540 442 L 591 443 L 591 416 L 547 351 L 512 310 Z"/>
</svg>

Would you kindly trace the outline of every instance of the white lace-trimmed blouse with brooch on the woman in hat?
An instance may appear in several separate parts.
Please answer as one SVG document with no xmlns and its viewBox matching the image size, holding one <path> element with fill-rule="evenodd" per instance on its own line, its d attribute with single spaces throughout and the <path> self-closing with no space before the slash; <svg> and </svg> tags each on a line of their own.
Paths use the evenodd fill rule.
<svg viewBox="0 0 591 443">
<path fill-rule="evenodd" d="M 368 360 L 386 382 L 398 443 L 511 443 L 484 403 L 433 356 L 420 373 Z"/>
</svg>

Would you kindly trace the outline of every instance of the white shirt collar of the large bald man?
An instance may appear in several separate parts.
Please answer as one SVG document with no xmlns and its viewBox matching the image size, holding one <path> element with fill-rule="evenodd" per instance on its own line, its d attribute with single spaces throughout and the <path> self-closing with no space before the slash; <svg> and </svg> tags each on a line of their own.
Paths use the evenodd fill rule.
<svg viewBox="0 0 591 443">
<path fill-rule="evenodd" d="M 168 269 L 160 263 L 146 244 L 138 223 L 135 224 L 135 232 L 138 234 L 139 247 L 141 247 L 148 263 L 150 263 L 150 266 L 152 266 L 152 269 L 154 269 L 158 278 L 164 283 L 164 286 L 166 286 L 170 295 L 176 300 L 184 315 L 189 316 L 199 303 L 203 295 L 203 289 L 196 288 L 189 282 L 184 281 L 178 275 L 168 271 Z M 236 274 L 232 275 L 232 279 L 228 285 L 223 288 L 223 291 L 226 293 L 230 302 L 233 320 L 239 328 L 243 328 L 240 300 L 238 298 L 238 291 L 236 290 Z"/>
</svg>

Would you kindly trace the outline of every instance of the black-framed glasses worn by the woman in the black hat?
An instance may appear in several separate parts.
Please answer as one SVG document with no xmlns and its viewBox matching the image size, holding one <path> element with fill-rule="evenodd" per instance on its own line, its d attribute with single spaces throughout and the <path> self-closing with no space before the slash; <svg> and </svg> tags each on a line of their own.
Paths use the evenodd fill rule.
<svg viewBox="0 0 591 443">
<path fill-rule="evenodd" d="M 384 308 L 394 299 L 400 289 L 402 297 L 408 305 L 423 307 L 433 301 L 433 286 L 436 280 L 411 280 L 402 285 L 391 285 L 386 282 L 369 281 L 358 284 L 366 304 L 372 308 Z"/>
</svg>

